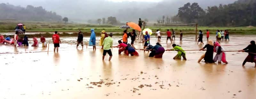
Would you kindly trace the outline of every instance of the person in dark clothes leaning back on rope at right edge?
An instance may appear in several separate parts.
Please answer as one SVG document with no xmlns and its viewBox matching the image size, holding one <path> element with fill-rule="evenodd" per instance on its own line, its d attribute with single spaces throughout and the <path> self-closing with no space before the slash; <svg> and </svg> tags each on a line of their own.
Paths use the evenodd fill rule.
<svg viewBox="0 0 256 99">
<path fill-rule="evenodd" d="M 255 63 L 255 68 L 256 68 L 256 44 L 255 41 L 251 41 L 250 45 L 248 45 L 246 48 L 244 48 L 243 50 L 238 50 L 239 52 L 248 52 L 248 56 L 245 58 L 244 62 L 243 62 L 243 67 L 245 65 L 246 62 L 251 62 L 251 63 Z"/>
</svg>

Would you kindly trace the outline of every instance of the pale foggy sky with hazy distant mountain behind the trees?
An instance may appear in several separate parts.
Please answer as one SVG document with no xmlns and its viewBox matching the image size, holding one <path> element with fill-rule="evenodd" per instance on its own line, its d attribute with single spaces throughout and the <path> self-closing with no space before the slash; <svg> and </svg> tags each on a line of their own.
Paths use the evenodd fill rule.
<svg viewBox="0 0 256 99">
<path fill-rule="evenodd" d="M 163 15 L 175 16 L 178 8 L 188 2 L 196 2 L 206 9 L 208 6 L 219 6 L 234 1 L 236 0 L 0 0 L 0 3 L 22 7 L 42 6 L 45 10 L 54 11 L 75 22 L 110 16 L 124 22 L 137 21 L 139 17 L 155 21 Z"/>
</svg>

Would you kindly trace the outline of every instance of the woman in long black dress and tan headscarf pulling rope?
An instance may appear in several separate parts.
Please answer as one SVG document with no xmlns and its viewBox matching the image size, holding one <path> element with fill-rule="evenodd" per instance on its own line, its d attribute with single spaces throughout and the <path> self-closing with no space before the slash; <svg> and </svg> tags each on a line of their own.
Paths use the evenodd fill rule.
<svg viewBox="0 0 256 99">
<path fill-rule="evenodd" d="M 201 60 L 204 58 L 204 62 L 205 63 L 213 63 L 213 49 L 214 49 L 214 44 L 213 44 L 213 41 L 212 40 L 209 40 L 208 41 L 208 44 L 206 44 L 202 49 L 199 49 L 199 50 L 204 50 L 204 49 L 207 49 L 205 54 L 203 54 L 200 59 L 198 60 L 198 63 L 201 62 Z"/>
</svg>

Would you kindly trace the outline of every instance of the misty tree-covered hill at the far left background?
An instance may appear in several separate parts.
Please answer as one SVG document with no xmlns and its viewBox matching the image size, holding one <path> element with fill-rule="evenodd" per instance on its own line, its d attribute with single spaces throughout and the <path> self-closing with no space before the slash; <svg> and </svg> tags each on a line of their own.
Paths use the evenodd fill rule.
<svg viewBox="0 0 256 99">
<path fill-rule="evenodd" d="M 0 19 L 15 19 L 22 21 L 61 21 L 56 12 L 46 11 L 43 7 L 28 5 L 26 8 L 9 3 L 0 4 Z"/>
</svg>

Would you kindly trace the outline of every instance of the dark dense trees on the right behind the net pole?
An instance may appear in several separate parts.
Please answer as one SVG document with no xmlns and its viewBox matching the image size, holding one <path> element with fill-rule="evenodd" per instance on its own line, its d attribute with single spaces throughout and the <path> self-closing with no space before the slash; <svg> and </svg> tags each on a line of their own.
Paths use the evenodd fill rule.
<svg viewBox="0 0 256 99">
<path fill-rule="evenodd" d="M 181 23 L 199 23 L 202 26 L 255 26 L 256 0 L 238 0 L 234 3 L 208 7 L 186 3 L 176 15 Z"/>
</svg>

